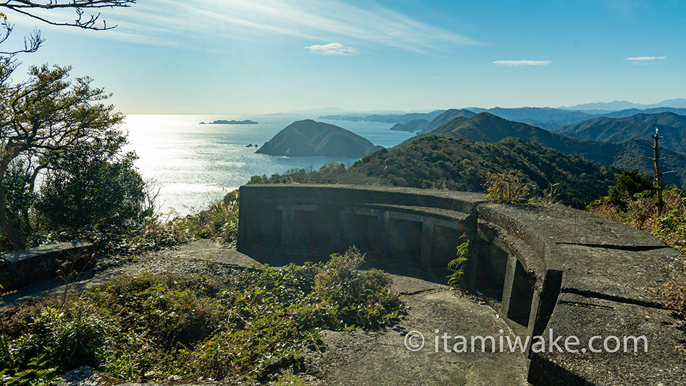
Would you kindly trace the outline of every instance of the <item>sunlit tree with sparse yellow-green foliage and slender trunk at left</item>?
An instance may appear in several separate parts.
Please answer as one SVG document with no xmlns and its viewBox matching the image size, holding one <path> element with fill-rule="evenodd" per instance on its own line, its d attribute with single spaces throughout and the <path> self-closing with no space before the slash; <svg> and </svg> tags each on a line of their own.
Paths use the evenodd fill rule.
<svg viewBox="0 0 686 386">
<path fill-rule="evenodd" d="M 64 169 L 64 160 L 89 149 L 117 154 L 126 137 L 117 129 L 123 114 L 101 102 L 109 97 L 91 79 L 69 80 L 69 67 L 29 69 L 29 80 L 12 84 L 16 64 L 0 58 L 0 229 L 12 248 L 25 247 L 19 228 L 27 218 L 10 191 L 10 176 L 19 175 L 23 191 L 34 192 L 42 172 Z M 17 180 L 16 176 L 14 180 Z"/>
</svg>

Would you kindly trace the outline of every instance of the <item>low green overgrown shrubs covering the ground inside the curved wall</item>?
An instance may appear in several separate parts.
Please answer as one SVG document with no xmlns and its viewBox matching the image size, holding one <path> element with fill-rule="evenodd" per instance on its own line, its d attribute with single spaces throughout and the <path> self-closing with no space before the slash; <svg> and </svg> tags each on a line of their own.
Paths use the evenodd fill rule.
<svg viewBox="0 0 686 386">
<path fill-rule="evenodd" d="M 302 365 L 322 328 L 378 329 L 401 315 L 390 278 L 359 270 L 363 260 L 351 249 L 326 264 L 228 277 L 118 276 L 67 304 L 14 305 L 0 313 L 0 374 L 37 385 L 87 364 L 128 380 L 264 380 Z"/>
</svg>

